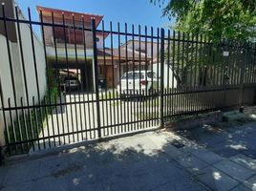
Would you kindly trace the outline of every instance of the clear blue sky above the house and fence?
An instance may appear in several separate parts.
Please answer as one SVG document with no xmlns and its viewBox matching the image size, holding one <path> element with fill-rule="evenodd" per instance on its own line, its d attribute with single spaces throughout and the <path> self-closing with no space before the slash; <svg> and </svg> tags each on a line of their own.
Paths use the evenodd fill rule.
<svg viewBox="0 0 256 191">
<path fill-rule="evenodd" d="M 103 15 L 105 23 L 113 22 L 116 26 L 132 24 L 154 28 L 166 28 L 171 21 L 161 16 L 161 9 L 150 0 L 16 0 L 17 5 L 27 16 L 28 7 L 32 11 L 32 20 L 38 20 L 35 6 L 43 6 L 67 11 L 78 11 Z"/>
</svg>

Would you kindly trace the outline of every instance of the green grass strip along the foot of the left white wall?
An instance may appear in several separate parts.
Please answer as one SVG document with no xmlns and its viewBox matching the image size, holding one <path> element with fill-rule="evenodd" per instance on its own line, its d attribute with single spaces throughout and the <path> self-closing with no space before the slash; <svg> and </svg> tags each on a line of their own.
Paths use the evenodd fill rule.
<svg viewBox="0 0 256 191">
<path fill-rule="evenodd" d="M 12 117 L 11 124 L 5 132 L 8 144 L 39 138 L 39 135 L 47 125 L 49 115 L 51 115 L 55 109 L 54 106 L 44 105 L 53 104 L 55 100 L 57 101 L 59 99 L 59 93 L 56 88 L 53 88 L 50 92 L 51 94 L 47 93 L 45 99 L 41 101 L 41 107 L 37 104 L 30 109 L 20 109 L 17 111 L 18 117 L 15 117 L 15 111 L 9 113 Z M 33 104 L 30 104 L 30 106 L 32 105 Z M 33 142 L 30 141 L 28 143 L 10 145 L 8 149 L 10 153 L 27 153 L 32 148 L 32 144 Z"/>
</svg>

